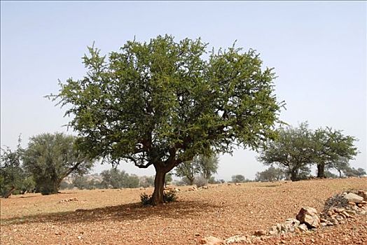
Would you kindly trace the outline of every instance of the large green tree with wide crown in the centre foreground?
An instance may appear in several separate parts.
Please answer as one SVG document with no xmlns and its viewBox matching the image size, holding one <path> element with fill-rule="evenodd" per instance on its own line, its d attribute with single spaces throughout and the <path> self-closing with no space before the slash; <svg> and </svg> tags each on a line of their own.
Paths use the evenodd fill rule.
<svg viewBox="0 0 367 245">
<path fill-rule="evenodd" d="M 60 83 L 78 146 L 109 162 L 155 168 L 152 204 L 165 174 L 195 155 L 257 148 L 274 136 L 280 106 L 275 74 L 254 50 L 207 52 L 200 38 L 128 41 L 108 56 L 89 48 L 81 79 Z M 51 95 L 52 97 L 53 95 Z"/>
</svg>

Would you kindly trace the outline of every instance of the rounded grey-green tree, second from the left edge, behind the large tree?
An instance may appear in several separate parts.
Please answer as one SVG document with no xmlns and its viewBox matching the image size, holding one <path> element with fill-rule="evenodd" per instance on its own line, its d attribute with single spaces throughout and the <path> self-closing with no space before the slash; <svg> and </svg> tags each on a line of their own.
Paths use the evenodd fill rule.
<svg viewBox="0 0 367 245">
<path fill-rule="evenodd" d="M 31 137 L 23 162 L 32 173 L 37 191 L 55 194 L 69 174 L 85 174 L 92 168 L 92 161 L 76 149 L 75 141 L 75 137 L 62 133 Z"/>
</svg>

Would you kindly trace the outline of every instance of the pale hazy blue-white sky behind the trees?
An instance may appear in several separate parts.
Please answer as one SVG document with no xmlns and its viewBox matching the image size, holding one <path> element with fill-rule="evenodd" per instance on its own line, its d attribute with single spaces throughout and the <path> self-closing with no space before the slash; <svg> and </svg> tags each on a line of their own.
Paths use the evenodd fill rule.
<svg viewBox="0 0 367 245">
<path fill-rule="evenodd" d="M 286 101 L 281 119 L 358 138 L 351 165 L 366 168 L 366 23 L 366 1 L 1 1 L 1 146 L 14 148 L 20 133 L 26 146 L 33 135 L 67 132 L 64 110 L 43 96 L 57 92 L 57 79 L 82 78 L 93 41 L 108 53 L 134 36 L 172 34 L 256 49 L 275 67 L 276 94 Z M 265 168 L 256 153 L 237 150 L 221 156 L 216 177 L 252 179 Z"/>
</svg>

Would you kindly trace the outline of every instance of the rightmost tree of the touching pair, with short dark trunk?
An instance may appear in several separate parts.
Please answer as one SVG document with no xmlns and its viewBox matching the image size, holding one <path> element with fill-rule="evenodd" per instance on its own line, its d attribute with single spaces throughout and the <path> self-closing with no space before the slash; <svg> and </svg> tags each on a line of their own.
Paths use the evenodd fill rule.
<svg viewBox="0 0 367 245">
<path fill-rule="evenodd" d="M 357 148 L 354 146 L 356 138 L 343 135 L 342 130 L 319 128 L 312 135 L 314 148 L 313 161 L 317 165 L 317 177 L 324 178 L 325 167 L 340 161 L 347 164 L 357 155 Z M 342 167 L 342 165 L 340 165 Z"/>
</svg>

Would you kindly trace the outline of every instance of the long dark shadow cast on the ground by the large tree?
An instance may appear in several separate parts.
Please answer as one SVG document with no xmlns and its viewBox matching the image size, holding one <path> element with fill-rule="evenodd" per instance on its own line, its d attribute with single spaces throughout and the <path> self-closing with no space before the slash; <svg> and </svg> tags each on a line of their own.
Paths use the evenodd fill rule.
<svg viewBox="0 0 367 245">
<path fill-rule="evenodd" d="M 76 209 L 53 214 L 38 214 L 17 218 L 1 219 L 1 225 L 22 223 L 93 223 L 96 221 L 144 221 L 148 218 L 193 218 L 202 212 L 216 212 L 221 206 L 205 202 L 172 202 L 157 207 L 143 207 L 140 203 L 123 204 L 97 209 Z"/>
</svg>

